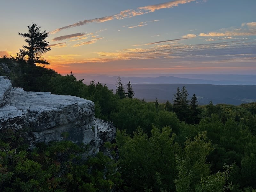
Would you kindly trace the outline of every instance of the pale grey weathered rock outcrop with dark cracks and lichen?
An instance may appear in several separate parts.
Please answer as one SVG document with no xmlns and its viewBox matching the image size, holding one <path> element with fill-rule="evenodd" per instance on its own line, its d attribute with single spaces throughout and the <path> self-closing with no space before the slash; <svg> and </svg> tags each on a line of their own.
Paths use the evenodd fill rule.
<svg viewBox="0 0 256 192">
<path fill-rule="evenodd" d="M 116 129 L 111 122 L 95 119 L 94 103 L 75 96 L 26 92 L 12 88 L 0 77 L 0 132 L 26 130 L 30 148 L 37 142 L 70 140 L 89 146 L 88 155 L 111 142 Z"/>
</svg>

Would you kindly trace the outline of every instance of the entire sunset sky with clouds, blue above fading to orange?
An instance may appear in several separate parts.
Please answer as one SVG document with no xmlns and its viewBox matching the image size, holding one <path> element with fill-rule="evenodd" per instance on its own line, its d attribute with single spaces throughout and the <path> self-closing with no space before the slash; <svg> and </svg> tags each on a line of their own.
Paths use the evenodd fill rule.
<svg viewBox="0 0 256 192">
<path fill-rule="evenodd" d="M 0 56 L 49 31 L 60 74 L 256 74 L 256 0 L 1 0 Z"/>
</svg>

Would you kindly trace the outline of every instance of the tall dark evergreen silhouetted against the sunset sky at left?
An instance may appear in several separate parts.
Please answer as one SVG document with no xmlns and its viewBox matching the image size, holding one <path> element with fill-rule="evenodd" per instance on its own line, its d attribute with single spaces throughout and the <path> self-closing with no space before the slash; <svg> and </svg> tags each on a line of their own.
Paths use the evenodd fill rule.
<svg viewBox="0 0 256 192">
<path fill-rule="evenodd" d="M 36 63 L 49 65 L 50 63 L 41 58 L 43 53 L 51 50 L 49 42 L 45 40 L 49 36 L 49 32 L 41 32 L 41 27 L 35 23 L 27 27 L 28 33 L 19 33 L 19 35 L 26 38 L 25 41 L 28 45 L 24 45 L 23 49 L 19 49 L 20 52 L 17 53 L 17 57 L 26 59 L 31 65 L 35 65 Z"/>
</svg>

